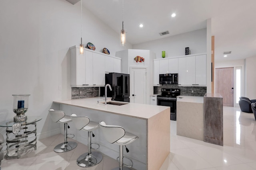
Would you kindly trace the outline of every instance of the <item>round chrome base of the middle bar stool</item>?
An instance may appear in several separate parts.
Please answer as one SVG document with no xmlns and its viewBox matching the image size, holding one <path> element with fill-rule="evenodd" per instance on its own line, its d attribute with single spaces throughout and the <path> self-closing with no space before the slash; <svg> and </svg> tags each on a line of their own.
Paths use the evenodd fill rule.
<svg viewBox="0 0 256 170">
<path fill-rule="evenodd" d="M 92 152 L 90 156 L 88 156 L 88 152 L 86 152 L 77 158 L 76 164 L 81 167 L 91 167 L 100 163 L 102 157 L 100 152 Z"/>
</svg>

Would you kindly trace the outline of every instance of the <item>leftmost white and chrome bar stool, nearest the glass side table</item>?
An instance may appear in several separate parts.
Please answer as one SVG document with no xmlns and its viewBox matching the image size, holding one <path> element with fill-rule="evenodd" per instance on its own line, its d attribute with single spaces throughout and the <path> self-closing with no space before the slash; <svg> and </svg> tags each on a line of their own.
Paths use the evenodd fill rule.
<svg viewBox="0 0 256 170">
<path fill-rule="evenodd" d="M 64 111 L 61 110 L 54 110 L 49 109 L 49 114 L 54 122 L 63 123 L 64 124 L 64 143 L 58 144 L 56 147 L 54 147 L 55 152 L 68 152 L 70 150 L 73 150 L 76 148 L 77 143 L 76 142 L 68 142 L 68 122 L 72 121 L 70 116 L 65 115 Z"/>
</svg>

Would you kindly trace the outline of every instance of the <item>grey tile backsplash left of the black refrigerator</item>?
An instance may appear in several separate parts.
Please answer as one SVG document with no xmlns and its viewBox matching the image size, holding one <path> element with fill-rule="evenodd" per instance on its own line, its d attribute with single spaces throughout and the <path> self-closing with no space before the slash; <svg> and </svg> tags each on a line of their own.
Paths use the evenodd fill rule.
<svg viewBox="0 0 256 170">
<path fill-rule="evenodd" d="M 99 96 L 99 87 L 72 87 L 72 99 L 93 98 Z"/>
</svg>

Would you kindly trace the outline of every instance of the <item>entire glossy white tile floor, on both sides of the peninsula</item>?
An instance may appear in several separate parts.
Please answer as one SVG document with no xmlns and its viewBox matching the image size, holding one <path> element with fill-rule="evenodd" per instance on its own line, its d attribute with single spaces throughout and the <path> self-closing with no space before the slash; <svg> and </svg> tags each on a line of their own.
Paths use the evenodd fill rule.
<svg viewBox="0 0 256 170">
<path fill-rule="evenodd" d="M 238 107 L 224 107 L 224 146 L 212 145 L 176 135 L 176 121 L 171 121 L 170 154 L 160 170 L 256 170 L 256 121 L 253 113 Z M 70 139 L 72 140 L 72 139 Z M 76 149 L 56 153 L 53 148 L 63 141 L 55 135 L 38 141 L 20 159 L 2 161 L 2 170 L 111 170 L 118 162 L 104 155 L 100 164 L 91 168 L 76 165 L 76 159 L 87 151 L 78 143 Z"/>
</svg>

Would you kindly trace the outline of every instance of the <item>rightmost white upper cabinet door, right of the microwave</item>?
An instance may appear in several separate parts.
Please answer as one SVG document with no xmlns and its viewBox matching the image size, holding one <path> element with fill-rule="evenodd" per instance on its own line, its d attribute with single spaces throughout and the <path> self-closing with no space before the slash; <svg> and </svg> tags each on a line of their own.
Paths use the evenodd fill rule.
<svg viewBox="0 0 256 170">
<path fill-rule="evenodd" d="M 196 84 L 206 85 L 206 55 L 196 56 Z"/>
</svg>

